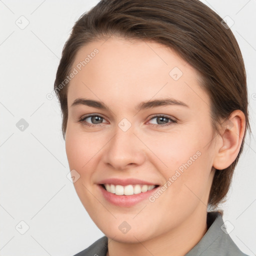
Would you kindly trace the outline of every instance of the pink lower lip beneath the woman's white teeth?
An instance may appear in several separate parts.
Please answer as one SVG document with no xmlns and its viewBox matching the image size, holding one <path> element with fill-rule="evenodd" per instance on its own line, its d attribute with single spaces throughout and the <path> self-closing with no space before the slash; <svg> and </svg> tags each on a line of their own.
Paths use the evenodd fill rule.
<svg viewBox="0 0 256 256">
<path fill-rule="evenodd" d="M 139 194 L 131 194 L 131 195 L 116 195 L 113 193 L 108 192 L 105 190 L 101 185 L 98 185 L 100 190 L 102 191 L 102 194 L 104 198 L 109 201 L 110 203 L 117 205 L 117 206 L 123 206 L 123 207 L 129 207 L 132 206 L 140 201 L 143 201 L 148 198 L 150 194 L 155 192 L 155 190 L 158 188 L 156 186 L 155 188 L 146 191 L 141 192 Z"/>
</svg>

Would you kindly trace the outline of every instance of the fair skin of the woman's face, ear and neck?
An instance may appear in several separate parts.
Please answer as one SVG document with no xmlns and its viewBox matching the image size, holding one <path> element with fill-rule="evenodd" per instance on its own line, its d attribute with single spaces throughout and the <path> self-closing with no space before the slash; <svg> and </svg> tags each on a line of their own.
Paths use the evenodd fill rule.
<svg viewBox="0 0 256 256">
<path fill-rule="evenodd" d="M 69 82 L 65 134 L 70 170 L 80 177 L 76 192 L 88 214 L 108 237 L 107 255 L 184 255 L 205 234 L 207 201 L 215 168 L 229 166 L 244 134 L 244 114 L 235 110 L 229 126 L 213 136 L 210 102 L 196 70 L 165 45 L 110 37 L 93 41 L 76 54 L 73 67 L 97 48 L 99 52 Z M 169 72 L 178 67 L 182 76 Z M 141 101 L 172 97 L 188 107 L 162 105 L 137 111 Z M 76 98 L 104 102 L 109 111 L 71 106 Z M 96 122 L 86 114 L 100 114 Z M 164 114 L 176 120 L 152 118 Z M 131 127 L 118 123 L 126 118 Z M 87 126 L 94 124 L 97 126 Z M 168 123 L 168 126 L 161 126 Z M 154 126 L 153 124 L 158 124 Z M 226 123 L 225 123 L 226 124 Z M 97 183 L 104 178 L 138 179 L 164 184 L 197 151 L 201 154 L 154 202 L 131 207 L 106 201 Z M 118 226 L 126 221 L 130 230 Z"/>
</svg>

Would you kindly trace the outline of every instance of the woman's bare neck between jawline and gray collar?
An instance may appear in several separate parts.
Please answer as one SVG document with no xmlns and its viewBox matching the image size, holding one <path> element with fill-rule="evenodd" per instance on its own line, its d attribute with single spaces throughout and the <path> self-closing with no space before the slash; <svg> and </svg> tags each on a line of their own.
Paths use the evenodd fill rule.
<svg viewBox="0 0 256 256">
<path fill-rule="evenodd" d="M 183 256 L 207 231 L 207 211 L 194 211 L 179 226 L 150 240 L 123 243 L 111 240 L 106 256 Z M 110 239 L 109 239 L 110 240 Z"/>
</svg>

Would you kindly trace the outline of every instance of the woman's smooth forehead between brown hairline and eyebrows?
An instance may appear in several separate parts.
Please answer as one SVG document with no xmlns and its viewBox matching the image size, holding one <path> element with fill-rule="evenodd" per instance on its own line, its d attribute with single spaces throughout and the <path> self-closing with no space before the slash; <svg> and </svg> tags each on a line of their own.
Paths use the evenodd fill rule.
<svg viewBox="0 0 256 256">
<path fill-rule="evenodd" d="M 200 76 L 166 45 L 111 37 L 84 45 L 77 52 L 68 85 L 68 106 L 89 97 L 126 106 L 153 97 L 174 97 L 198 107 L 208 101 Z M 199 102 L 204 101 L 204 102 Z"/>
</svg>

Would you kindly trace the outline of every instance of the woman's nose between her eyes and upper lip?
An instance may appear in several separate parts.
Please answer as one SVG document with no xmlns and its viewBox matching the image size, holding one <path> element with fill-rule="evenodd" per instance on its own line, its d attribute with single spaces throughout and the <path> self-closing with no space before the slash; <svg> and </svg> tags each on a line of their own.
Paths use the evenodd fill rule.
<svg viewBox="0 0 256 256">
<path fill-rule="evenodd" d="M 105 147 L 103 161 L 117 170 L 140 165 L 145 161 L 144 147 L 132 126 L 126 131 L 116 126 L 115 134 Z"/>
</svg>

